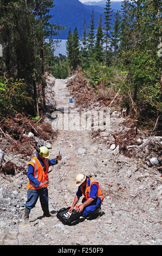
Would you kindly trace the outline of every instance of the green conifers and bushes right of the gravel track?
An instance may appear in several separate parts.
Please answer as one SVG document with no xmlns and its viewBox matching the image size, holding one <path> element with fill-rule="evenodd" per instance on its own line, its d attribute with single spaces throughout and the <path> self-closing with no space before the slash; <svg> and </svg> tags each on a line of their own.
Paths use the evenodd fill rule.
<svg viewBox="0 0 162 256">
<path fill-rule="evenodd" d="M 98 91 L 102 84 L 107 89 L 120 90 L 127 113 L 138 125 L 154 127 L 161 120 L 161 3 L 157 1 L 122 1 L 122 9 L 116 12 L 112 24 L 111 1 L 107 0 L 105 13 L 100 17 L 95 34 L 94 13 L 90 26 L 84 23 L 84 33 L 78 50 L 72 42 L 76 33 L 70 32 L 67 42 L 68 60 L 72 69 L 80 65 L 90 84 Z M 76 29 L 75 29 L 76 30 Z M 69 49 L 70 46 L 70 49 Z M 77 52 L 74 56 L 70 52 Z"/>
</svg>

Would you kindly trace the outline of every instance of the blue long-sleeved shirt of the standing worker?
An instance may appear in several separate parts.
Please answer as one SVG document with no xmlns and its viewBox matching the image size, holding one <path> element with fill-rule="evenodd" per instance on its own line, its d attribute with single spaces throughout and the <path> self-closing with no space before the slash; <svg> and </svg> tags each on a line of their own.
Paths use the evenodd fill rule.
<svg viewBox="0 0 162 256">
<path fill-rule="evenodd" d="M 38 157 L 38 154 L 36 154 L 36 157 L 37 157 L 37 159 L 40 161 L 42 167 L 44 167 L 43 160 L 40 159 L 40 157 Z M 57 162 L 55 159 L 51 159 L 51 160 L 48 159 L 48 164 L 49 164 L 49 166 L 54 166 L 54 164 L 57 164 L 57 163 L 58 163 L 58 162 Z M 38 181 L 38 180 L 34 177 L 34 167 L 33 167 L 31 164 L 29 164 L 27 176 L 28 176 L 28 178 L 31 180 L 31 182 L 34 183 L 34 185 L 35 185 L 36 187 L 38 187 L 38 186 L 41 184 L 41 182 Z"/>
</svg>

